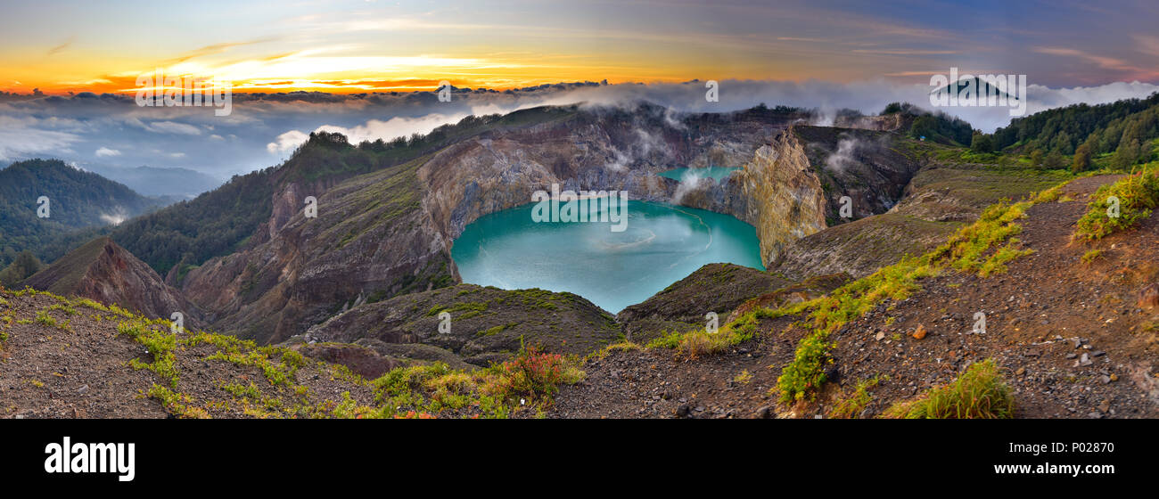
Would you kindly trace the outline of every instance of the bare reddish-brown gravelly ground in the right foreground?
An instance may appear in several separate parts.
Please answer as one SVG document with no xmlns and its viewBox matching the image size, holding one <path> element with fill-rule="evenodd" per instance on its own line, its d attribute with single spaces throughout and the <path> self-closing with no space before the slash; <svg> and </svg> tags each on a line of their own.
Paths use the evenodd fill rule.
<svg viewBox="0 0 1159 499">
<path fill-rule="evenodd" d="M 1063 189 L 1063 201 L 1030 207 L 1018 237 L 1035 252 L 1011 262 L 1008 272 L 945 271 L 907 300 L 846 324 L 831 337 L 837 382 L 817 403 L 783 408 L 768 394 L 801 335 L 782 333 L 793 318 L 781 317 L 764 321 L 758 339 L 714 357 L 617 351 L 590 361 L 588 379 L 564 387 L 549 416 L 825 417 L 854 382 L 888 375 L 859 414 L 873 417 L 993 358 L 1014 390 L 1018 417 L 1159 417 L 1159 310 L 1137 304 L 1138 292 L 1159 280 L 1159 217 L 1099 242 L 1071 242 L 1089 195 L 1117 178 L 1077 179 Z M 1092 249 L 1101 257 L 1083 263 Z M 976 313 L 985 314 L 985 333 L 972 332 Z M 914 339 L 919 324 L 928 333 Z"/>
</svg>

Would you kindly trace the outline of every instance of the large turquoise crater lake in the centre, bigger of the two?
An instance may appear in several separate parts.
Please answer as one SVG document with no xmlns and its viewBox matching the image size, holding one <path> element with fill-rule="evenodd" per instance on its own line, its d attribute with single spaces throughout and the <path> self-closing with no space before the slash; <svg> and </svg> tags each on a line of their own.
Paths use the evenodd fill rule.
<svg viewBox="0 0 1159 499">
<path fill-rule="evenodd" d="M 708 263 L 764 270 L 756 229 L 729 215 L 628 201 L 627 228 L 615 233 L 610 222 L 537 223 L 532 206 L 464 229 L 451 249 L 464 282 L 567 291 L 614 314 Z"/>
</svg>

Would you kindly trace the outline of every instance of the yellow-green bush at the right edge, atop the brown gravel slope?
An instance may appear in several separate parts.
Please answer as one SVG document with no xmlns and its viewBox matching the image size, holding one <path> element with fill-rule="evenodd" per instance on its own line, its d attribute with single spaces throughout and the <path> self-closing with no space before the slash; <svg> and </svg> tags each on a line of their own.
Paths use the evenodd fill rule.
<svg viewBox="0 0 1159 499">
<path fill-rule="evenodd" d="M 1159 163 L 1099 188 L 1091 198 L 1086 214 L 1078 221 L 1076 237 L 1098 240 L 1135 227 L 1151 217 L 1151 210 L 1159 203 Z"/>
</svg>

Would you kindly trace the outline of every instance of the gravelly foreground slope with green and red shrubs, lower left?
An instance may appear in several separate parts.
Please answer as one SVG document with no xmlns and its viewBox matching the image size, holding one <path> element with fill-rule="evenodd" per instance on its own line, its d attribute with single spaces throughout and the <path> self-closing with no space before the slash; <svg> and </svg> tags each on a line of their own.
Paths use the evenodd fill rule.
<svg viewBox="0 0 1159 499">
<path fill-rule="evenodd" d="M 391 357 L 381 345 L 260 347 L 92 300 L 0 288 L 0 418 L 509 418 L 534 416 L 555 386 L 583 375 L 557 354 L 457 369 L 418 359 L 436 347 Z M 529 386 L 518 366 L 556 379 Z"/>
</svg>

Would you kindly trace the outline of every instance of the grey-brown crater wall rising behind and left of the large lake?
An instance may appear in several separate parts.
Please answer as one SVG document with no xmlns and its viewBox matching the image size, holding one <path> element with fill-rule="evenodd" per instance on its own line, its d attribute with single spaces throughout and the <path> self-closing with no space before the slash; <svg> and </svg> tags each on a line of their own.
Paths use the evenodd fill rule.
<svg viewBox="0 0 1159 499">
<path fill-rule="evenodd" d="M 673 119 L 642 104 L 596 109 L 447 147 L 420 170 L 423 206 L 453 241 L 487 213 L 531 203 L 538 190 L 627 191 L 630 199 L 685 204 L 736 214 L 735 200 L 712 179 L 681 185 L 658 174 L 684 167 L 737 168 L 797 115 L 739 112 Z"/>
</svg>

